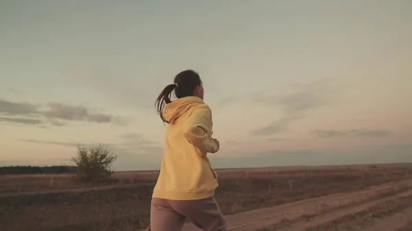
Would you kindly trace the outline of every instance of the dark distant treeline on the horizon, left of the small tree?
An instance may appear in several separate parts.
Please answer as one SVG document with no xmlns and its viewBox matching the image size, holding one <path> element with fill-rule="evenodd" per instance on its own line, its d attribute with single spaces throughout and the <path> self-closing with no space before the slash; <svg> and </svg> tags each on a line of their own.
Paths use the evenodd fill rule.
<svg viewBox="0 0 412 231">
<path fill-rule="evenodd" d="M 71 166 L 6 166 L 0 167 L 0 175 L 12 174 L 61 174 L 76 171 L 76 167 Z"/>
</svg>

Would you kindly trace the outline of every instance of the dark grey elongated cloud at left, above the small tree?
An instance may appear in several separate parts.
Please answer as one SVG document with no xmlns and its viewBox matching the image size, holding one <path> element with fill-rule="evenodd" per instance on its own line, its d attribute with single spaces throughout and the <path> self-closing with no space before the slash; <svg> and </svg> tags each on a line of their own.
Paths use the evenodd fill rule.
<svg viewBox="0 0 412 231">
<path fill-rule="evenodd" d="M 46 106 L 39 106 L 29 103 L 12 102 L 0 100 L 0 114 L 6 114 L 13 117 L 42 117 L 40 119 L 12 118 L 3 117 L 0 121 L 40 124 L 48 121 L 52 125 L 62 126 L 63 121 L 87 121 L 93 123 L 115 123 L 125 125 L 126 121 L 121 117 L 113 117 L 111 114 L 102 112 L 91 112 L 84 106 L 72 106 L 60 103 L 49 103 Z"/>
</svg>

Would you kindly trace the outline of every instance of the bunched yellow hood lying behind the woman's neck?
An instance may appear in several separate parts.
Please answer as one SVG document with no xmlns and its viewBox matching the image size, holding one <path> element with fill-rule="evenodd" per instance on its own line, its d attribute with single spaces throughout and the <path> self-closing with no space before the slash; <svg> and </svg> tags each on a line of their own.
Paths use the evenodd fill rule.
<svg viewBox="0 0 412 231">
<path fill-rule="evenodd" d="M 162 112 L 163 118 L 169 123 L 173 123 L 179 119 L 182 114 L 192 112 L 196 108 L 207 107 L 203 99 L 194 96 L 183 97 L 176 99 L 169 104 L 166 104 Z"/>
</svg>

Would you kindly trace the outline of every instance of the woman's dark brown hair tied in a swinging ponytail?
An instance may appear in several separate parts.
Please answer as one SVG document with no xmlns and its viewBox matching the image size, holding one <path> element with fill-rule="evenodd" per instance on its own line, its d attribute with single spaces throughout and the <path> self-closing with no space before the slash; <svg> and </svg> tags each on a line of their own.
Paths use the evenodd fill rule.
<svg viewBox="0 0 412 231">
<path fill-rule="evenodd" d="M 176 85 L 177 84 L 177 85 Z M 193 70 L 182 71 L 174 77 L 174 84 L 169 84 L 159 94 L 156 99 L 155 105 L 157 108 L 157 114 L 160 115 L 160 118 L 163 122 L 168 123 L 163 118 L 163 109 L 166 104 L 172 102 L 170 96 L 174 90 L 174 96 L 178 99 L 187 96 L 194 96 L 194 88 L 202 84 L 201 77 Z"/>
</svg>

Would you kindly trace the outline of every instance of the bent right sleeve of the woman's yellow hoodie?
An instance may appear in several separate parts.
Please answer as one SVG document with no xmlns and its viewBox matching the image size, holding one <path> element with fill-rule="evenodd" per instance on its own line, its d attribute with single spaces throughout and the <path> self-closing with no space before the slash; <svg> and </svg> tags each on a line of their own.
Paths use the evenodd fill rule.
<svg viewBox="0 0 412 231">
<path fill-rule="evenodd" d="M 205 107 L 195 109 L 183 127 L 183 134 L 187 141 L 203 155 L 219 150 L 218 145 L 211 139 L 211 126 L 211 110 Z"/>
</svg>

